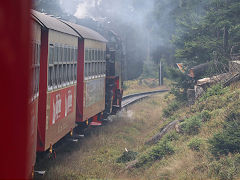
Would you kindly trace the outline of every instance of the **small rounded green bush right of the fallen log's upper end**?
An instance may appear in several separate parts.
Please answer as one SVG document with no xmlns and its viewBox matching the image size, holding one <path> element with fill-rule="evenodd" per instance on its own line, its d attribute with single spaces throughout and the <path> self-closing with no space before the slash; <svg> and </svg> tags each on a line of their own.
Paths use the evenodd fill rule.
<svg viewBox="0 0 240 180">
<path fill-rule="evenodd" d="M 181 129 L 188 135 L 195 135 L 199 133 L 202 122 L 199 115 L 192 116 L 180 124 Z"/>
</svg>

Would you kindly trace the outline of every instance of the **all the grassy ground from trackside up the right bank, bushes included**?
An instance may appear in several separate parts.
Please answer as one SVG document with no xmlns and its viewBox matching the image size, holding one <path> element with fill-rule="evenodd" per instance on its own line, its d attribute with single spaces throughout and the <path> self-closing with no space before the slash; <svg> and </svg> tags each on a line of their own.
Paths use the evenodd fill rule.
<svg viewBox="0 0 240 180">
<path fill-rule="evenodd" d="M 221 133 L 238 136 L 238 126 L 229 122 L 235 123 L 239 117 L 240 83 L 213 87 L 190 107 L 183 104 L 172 110 L 168 105 L 174 101 L 173 95 L 165 93 L 129 107 L 111 123 L 73 144 L 69 152 L 60 153 L 55 162 L 49 162 L 44 179 L 239 179 L 239 151 L 215 156 L 210 140 Z M 164 109 L 171 113 L 163 116 Z M 183 120 L 178 133 L 169 132 L 158 144 L 145 145 L 175 119 Z M 117 163 L 125 148 L 137 152 L 137 168 L 127 170 L 126 163 Z"/>
</svg>

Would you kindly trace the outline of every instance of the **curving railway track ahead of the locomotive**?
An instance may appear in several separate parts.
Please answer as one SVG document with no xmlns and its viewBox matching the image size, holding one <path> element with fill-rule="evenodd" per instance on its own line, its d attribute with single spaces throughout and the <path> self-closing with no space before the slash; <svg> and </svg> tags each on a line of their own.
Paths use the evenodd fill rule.
<svg viewBox="0 0 240 180">
<path fill-rule="evenodd" d="M 167 89 L 163 89 L 163 90 L 157 90 L 157 91 L 135 93 L 135 94 L 130 94 L 130 95 L 124 96 L 122 98 L 122 108 L 125 108 L 125 107 L 129 106 L 130 104 L 133 104 L 136 101 L 139 101 L 139 100 L 141 100 L 143 98 L 146 98 L 150 95 L 157 94 L 157 93 L 163 93 L 163 92 L 167 92 L 167 91 L 168 91 Z"/>
</svg>

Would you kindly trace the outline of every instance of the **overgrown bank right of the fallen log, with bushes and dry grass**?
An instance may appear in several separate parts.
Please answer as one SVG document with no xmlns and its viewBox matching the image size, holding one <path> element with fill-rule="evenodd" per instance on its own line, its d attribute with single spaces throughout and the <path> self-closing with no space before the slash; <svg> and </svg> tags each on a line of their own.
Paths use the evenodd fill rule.
<svg viewBox="0 0 240 180">
<path fill-rule="evenodd" d="M 239 178 L 238 87 L 214 85 L 188 108 L 177 98 L 166 96 L 169 105 L 163 110 L 165 123 L 161 127 L 181 120 L 178 133 L 165 135 L 157 145 L 140 153 L 137 167 L 147 167 L 144 173 L 151 179 Z"/>
</svg>

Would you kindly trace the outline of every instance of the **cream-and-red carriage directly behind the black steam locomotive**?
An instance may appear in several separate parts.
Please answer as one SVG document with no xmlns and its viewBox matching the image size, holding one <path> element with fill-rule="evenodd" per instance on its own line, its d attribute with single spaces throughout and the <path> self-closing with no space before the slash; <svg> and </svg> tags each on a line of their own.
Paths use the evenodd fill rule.
<svg viewBox="0 0 240 180">
<path fill-rule="evenodd" d="M 105 109 L 106 39 L 89 28 L 65 23 L 81 36 L 78 41 L 76 122 L 101 125 L 99 120 Z"/>
</svg>

